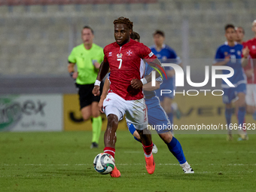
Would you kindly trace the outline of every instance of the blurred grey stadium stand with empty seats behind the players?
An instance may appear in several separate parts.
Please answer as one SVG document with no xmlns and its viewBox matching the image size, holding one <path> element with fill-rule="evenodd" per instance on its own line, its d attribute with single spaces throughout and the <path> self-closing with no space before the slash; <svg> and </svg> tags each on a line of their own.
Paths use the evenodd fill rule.
<svg viewBox="0 0 256 192">
<path fill-rule="evenodd" d="M 189 65 L 192 58 L 214 58 L 225 41 L 227 23 L 244 27 L 245 40 L 252 38 L 255 8 L 254 0 L 0 0 L 0 93 L 20 93 L 12 85 L 21 81 L 41 82 L 34 86 L 38 92 L 44 90 L 40 86 L 52 85 L 62 87 L 48 91 L 75 92 L 67 58 L 72 47 L 81 44 L 85 25 L 94 29 L 94 42 L 102 47 L 114 41 L 112 23 L 120 16 L 133 21 L 134 31 L 148 46 L 154 30 L 161 29 L 166 44 Z M 194 65 L 204 72 L 205 63 Z"/>
</svg>

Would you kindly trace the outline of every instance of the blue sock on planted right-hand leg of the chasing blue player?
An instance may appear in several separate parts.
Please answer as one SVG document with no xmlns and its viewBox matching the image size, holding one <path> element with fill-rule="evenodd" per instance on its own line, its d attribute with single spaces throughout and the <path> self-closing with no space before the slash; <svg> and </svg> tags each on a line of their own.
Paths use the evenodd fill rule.
<svg viewBox="0 0 256 192">
<path fill-rule="evenodd" d="M 172 141 L 167 144 L 169 151 L 176 157 L 180 164 L 186 163 L 186 158 L 184 156 L 183 150 L 181 148 L 180 142 L 175 137 L 172 137 Z"/>
</svg>

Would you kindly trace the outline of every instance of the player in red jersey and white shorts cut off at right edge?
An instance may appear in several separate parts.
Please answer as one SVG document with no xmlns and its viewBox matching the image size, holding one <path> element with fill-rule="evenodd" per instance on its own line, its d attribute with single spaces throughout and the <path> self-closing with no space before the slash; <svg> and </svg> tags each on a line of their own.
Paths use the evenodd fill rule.
<svg viewBox="0 0 256 192">
<path fill-rule="evenodd" d="M 245 53 L 243 56 L 248 60 L 248 65 L 245 66 L 245 75 L 247 76 L 247 95 L 245 101 L 247 104 L 247 112 L 252 114 L 254 120 L 256 120 L 256 20 L 251 26 L 252 32 L 254 32 L 254 38 L 243 43 Z"/>
</svg>

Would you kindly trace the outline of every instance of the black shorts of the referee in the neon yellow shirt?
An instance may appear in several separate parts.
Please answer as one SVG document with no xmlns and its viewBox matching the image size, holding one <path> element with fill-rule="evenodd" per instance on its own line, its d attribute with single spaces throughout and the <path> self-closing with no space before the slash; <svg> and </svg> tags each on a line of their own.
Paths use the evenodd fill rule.
<svg viewBox="0 0 256 192">
<path fill-rule="evenodd" d="M 99 102 L 100 96 L 102 95 L 103 85 L 104 85 L 104 82 L 102 81 L 99 88 L 100 95 L 93 96 L 92 91 L 93 91 L 94 84 L 76 84 L 76 87 L 78 88 L 80 109 L 88 105 L 91 105 L 92 102 Z"/>
</svg>

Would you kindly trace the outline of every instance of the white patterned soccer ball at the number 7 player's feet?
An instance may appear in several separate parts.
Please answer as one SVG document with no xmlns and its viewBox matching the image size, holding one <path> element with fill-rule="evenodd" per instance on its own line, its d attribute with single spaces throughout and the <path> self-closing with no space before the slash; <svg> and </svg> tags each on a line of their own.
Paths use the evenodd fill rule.
<svg viewBox="0 0 256 192">
<path fill-rule="evenodd" d="M 114 158 L 111 156 L 111 154 L 97 154 L 97 156 L 93 160 L 94 169 L 96 170 L 96 172 L 99 172 L 103 175 L 113 171 L 114 166 Z"/>
</svg>

